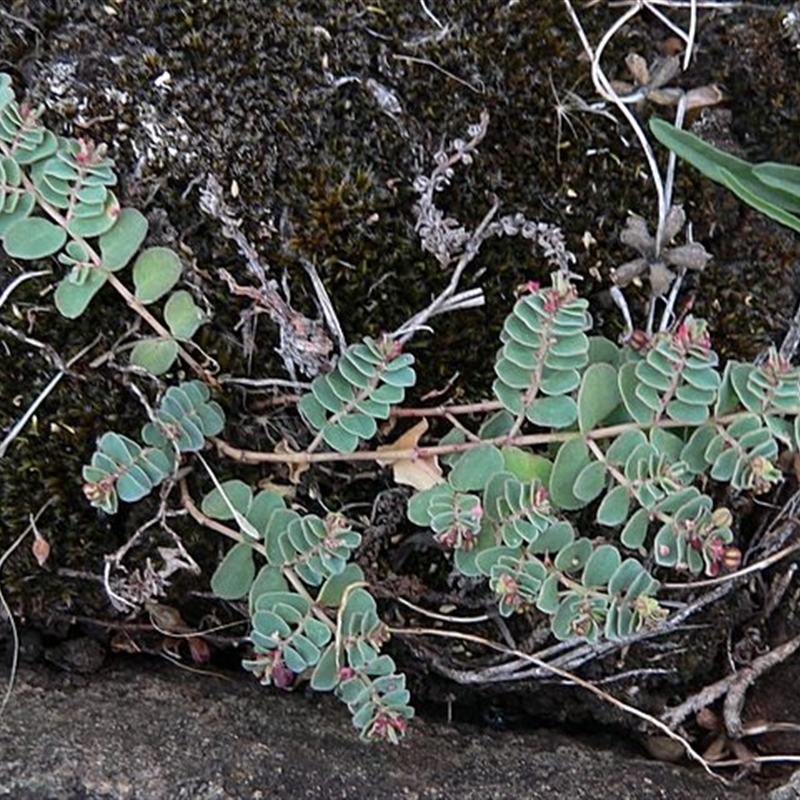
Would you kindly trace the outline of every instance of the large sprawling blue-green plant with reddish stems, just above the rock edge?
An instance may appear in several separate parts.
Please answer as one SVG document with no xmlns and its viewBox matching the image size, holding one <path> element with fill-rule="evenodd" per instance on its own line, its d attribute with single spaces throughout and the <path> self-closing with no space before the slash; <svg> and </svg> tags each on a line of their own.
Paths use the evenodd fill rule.
<svg viewBox="0 0 800 800">
<path fill-rule="evenodd" d="M 488 580 L 501 614 L 537 609 L 558 639 L 596 642 L 658 627 L 666 612 L 654 567 L 713 576 L 738 565 L 732 514 L 714 497 L 724 484 L 760 493 L 781 479 L 781 448 L 800 447 L 800 372 L 774 353 L 720 372 L 704 324 L 692 318 L 635 347 L 590 328 L 586 301 L 555 273 L 506 319 L 499 410 L 477 434 L 454 429 L 412 456 L 386 448 L 372 456 L 449 453 L 447 477 L 411 498 L 409 519 L 453 552 L 461 574 Z M 346 459 L 369 440 L 375 419 L 413 385 L 412 362 L 389 340 L 351 346 L 300 401 L 317 434 L 306 457 L 324 442 Z M 101 440 L 84 473 L 93 502 L 113 508 L 114 488 L 122 494 L 138 468 L 155 485 L 169 443 L 190 452 L 201 431 L 221 427 L 199 387 L 168 391 L 143 431 L 149 449 L 119 447 L 116 434 Z M 137 475 L 134 495 L 145 486 Z M 237 543 L 212 588 L 247 598 L 254 653 L 245 666 L 278 686 L 308 674 L 314 688 L 348 703 L 363 737 L 396 740 L 412 711 L 404 678 L 380 653 L 389 630 L 351 561 L 359 534 L 339 515 L 301 514 L 238 480 L 206 495 L 202 514 L 238 528 L 227 530 Z"/>
</svg>

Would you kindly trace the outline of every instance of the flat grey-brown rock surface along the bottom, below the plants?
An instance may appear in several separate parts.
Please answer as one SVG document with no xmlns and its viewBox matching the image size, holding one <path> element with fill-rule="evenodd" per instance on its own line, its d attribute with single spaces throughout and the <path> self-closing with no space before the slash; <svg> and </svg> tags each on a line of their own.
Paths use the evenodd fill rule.
<svg viewBox="0 0 800 800">
<path fill-rule="evenodd" d="M 365 745 L 327 695 L 274 694 L 158 662 L 89 678 L 28 669 L 0 721 L 0 798 L 15 800 L 756 796 L 699 768 L 547 730 L 415 720 L 402 745 Z"/>
</svg>

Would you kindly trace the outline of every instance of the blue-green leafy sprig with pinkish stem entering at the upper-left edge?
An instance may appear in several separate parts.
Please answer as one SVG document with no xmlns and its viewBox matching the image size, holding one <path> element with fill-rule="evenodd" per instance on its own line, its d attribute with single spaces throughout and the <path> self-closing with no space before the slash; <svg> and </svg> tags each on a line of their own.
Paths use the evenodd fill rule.
<svg viewBox="0 0 800 800">
<path fill-rule="evenodd" d="M 56 308 L 67 319 L 83 314 L 110 283 L 158 334 L 135 344 L 131 363 L 160 375 L 180 353 L 202 376 L 202 367 L 181 346 L 205 317 L 189 292 L 171 292 L 183 269 L 178 255 L 167 247 L 139 252 L 148 223 L 136 209 L 120 206 L 111 189 L 117 177 L 105 146 L 56 136 L 39 117 L 40 112 L 16 102 L 11 78 L 0 73 L 3 249 L 24 260 L 56 256 L 68 268 L 55 291 Z M 116 273 L 137 253 L 131 291 Z M 145 306 L 166 295 L 164 325 Z"/>
</svg>

